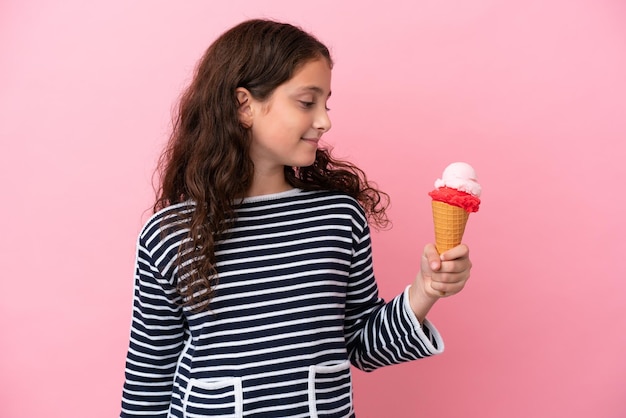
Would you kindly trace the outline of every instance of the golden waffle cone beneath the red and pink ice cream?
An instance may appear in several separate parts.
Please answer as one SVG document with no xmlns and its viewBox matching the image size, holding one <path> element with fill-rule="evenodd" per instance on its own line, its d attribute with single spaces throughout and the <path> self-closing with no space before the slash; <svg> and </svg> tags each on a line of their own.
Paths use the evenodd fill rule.
<svg viewBox="0 0 626 418">
<path fill-rule="evenodd" d="M 432 201 L 435 245 L 439 254 L 456 247 L 463 239 L 469 212 L 458 206 Z"/>
</svg>

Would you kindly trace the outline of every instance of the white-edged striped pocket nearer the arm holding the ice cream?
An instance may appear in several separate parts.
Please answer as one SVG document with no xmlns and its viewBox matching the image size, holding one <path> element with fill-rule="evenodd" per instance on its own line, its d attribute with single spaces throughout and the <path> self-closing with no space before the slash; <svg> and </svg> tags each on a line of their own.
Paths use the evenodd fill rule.
<svg viewBox="0 0 626 418">
<path fill-rule="evenodd" d="M 309 367 L 309 413 L 311 418 L 349 417 L 353 414 L 350 361 Z"/>
</svg>

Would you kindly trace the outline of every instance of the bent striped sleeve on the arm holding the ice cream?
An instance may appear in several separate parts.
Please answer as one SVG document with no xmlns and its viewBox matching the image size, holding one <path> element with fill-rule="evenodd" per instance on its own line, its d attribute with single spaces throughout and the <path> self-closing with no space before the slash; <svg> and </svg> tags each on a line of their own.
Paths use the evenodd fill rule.
<svg viewBox="0 0 626 418">
<path fill-rule="evenodd" d="M 408 288 L 385 303 L 374 278 L 367 224 L 353 231 L 353 257 L 346 299 L 346 341 L 350 361 L 364 371 L 439 354 L 443 340 L 408 303 Z"/>
</svg>

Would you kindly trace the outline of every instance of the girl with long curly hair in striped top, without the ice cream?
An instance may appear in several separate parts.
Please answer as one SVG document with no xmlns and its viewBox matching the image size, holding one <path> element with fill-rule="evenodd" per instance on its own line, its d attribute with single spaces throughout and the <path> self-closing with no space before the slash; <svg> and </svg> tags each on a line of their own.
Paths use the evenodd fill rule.
<svg viewBox="0 0 626 418">
<path fill-rule="evenodd" d="M 251 20 L 202 57 L 140 233 L 122 417 L 353 417 L 350 364 L 440 353 L 425 319 L 469 277 L 424 249 L 385 303 L 367 219 L 386 195 L 318 147 L 332 61 L 302 30 Z"/>
</svg>

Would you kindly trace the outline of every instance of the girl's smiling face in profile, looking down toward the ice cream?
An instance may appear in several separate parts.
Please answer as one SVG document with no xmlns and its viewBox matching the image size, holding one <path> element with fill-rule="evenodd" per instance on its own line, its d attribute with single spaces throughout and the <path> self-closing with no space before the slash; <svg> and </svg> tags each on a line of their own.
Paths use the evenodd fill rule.
<svg viewBox="0 0 626 418">
<path fill-rule="evenodd" d="M 310 61 L 265 102 L 251 101 L 250 156 L 256 170 L 313 164 L 319 139 L 331 126 L 330 79 L 325 59 Z"/>
</svg>

